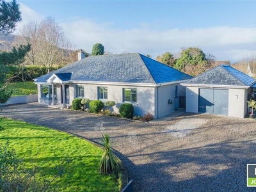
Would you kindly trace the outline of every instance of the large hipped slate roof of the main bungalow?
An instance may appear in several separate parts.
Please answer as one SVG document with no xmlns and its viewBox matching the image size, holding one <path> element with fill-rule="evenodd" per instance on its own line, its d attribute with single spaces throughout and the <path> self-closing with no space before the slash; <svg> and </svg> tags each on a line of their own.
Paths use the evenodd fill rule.
<svg viewBox="0 0 256 192">
<path fill-rule="evenodd" d="M 89 56 L 35 82 L 46 82 L 52 74 L 72 74 L 70 81 L 116 83 L 166 83 L 191 79 L 191 76 L 139 53 Z"/>
</svg>

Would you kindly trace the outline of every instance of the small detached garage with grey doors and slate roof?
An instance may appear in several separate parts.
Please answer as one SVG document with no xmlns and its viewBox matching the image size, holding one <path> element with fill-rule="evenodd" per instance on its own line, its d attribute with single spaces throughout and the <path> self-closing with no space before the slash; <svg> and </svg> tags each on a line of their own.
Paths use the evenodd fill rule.
<svg viewBox="0 0 256 192">
<path fill-rule="evenodd" d="M 229 65 L 219 65 L 185 83 L 186 112 L 244 118 L 256 80 Z"/>
</svg>

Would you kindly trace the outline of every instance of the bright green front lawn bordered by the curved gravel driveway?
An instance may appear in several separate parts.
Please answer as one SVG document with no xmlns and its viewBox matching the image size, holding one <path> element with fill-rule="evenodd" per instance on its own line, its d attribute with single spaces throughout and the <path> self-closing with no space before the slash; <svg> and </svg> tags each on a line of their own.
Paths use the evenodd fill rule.
<svg viewBox="0 0 256 192">
<path fill-rule="evenodd" d="M 72 160 L 67 173 L 52 183 L 56 191 L 118 191 L 115 175 L 100 175 L 98 165 L 102 149 L 81 138 L 47 127 L 4 118 L 0 144 L 10 142 L 26 168 L 43 170 L 54 177 L 54 167 Z"/>
</svg>

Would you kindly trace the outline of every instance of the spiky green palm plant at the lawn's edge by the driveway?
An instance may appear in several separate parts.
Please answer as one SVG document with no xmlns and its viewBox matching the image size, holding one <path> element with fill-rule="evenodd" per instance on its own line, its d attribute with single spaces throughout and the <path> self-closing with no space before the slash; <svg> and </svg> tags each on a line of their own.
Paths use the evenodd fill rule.
<svg viewBox="0 0 256 192">
<path fill-rule="evenodd" d="M 99 163 L 99 172 L 106 175 L 107 173 L 119 172 L 123 168 L 123 164 L 116 157 L 112 148 L 112 141 L 108 134 L 102 134 L 100 139 L 102 145 L 104 146 L 104 152 Z"/>
</svg>

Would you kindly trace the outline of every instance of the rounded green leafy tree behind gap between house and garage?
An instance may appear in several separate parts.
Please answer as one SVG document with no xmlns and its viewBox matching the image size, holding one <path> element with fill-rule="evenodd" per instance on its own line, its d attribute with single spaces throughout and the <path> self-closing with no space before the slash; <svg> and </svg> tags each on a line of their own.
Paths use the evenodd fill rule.
<svg viewBox="0 0 256 192">
<path fill-rule="evenodd" d="M 181 49 L 180 57 L 173 67 L 191 76 L 197 76 L 211 68 L 212 61 L 211 54 L 206 55 L 198 47 L 189 47 Z"/>
</svg>

